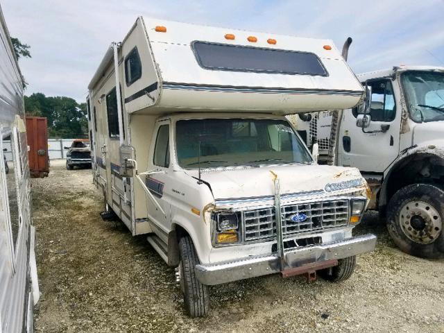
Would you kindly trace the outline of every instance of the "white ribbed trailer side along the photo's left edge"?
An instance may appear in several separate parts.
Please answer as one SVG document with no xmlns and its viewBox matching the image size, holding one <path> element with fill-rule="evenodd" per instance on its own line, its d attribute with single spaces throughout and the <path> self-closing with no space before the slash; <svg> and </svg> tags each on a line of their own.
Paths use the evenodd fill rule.
<svg viewBox="0 0 444 333">
<path fill-rule="evenodd" d="M 33 332 L 39 288 L 23 81 L 1 8 L 0 40 L 0 332 Z"/>
</svg>

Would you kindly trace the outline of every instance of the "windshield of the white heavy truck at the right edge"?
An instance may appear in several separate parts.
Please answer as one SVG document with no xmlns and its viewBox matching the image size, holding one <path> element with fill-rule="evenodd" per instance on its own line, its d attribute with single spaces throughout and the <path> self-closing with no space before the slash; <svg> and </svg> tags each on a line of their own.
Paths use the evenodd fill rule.
<svg viewBox="0 0 444 333">
<path fill-rule="evenodd" d="M 408 71 L 402 85 L 413 121 L 444 120 L 444 73 Z"/>
</svg>

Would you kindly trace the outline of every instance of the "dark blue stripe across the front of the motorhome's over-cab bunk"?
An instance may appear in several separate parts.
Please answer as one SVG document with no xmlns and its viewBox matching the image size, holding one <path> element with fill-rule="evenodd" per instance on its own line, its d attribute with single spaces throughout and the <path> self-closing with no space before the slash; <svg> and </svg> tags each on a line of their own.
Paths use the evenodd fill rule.
<svg viewBox="0 0 444 333">
<path fill-rule="evenodd" d="M 318 94 L 330 95 L 339 94 L 347 96 L 362 96 L 363 92 L 357 90 L 328 90 L 328 89 L 303 89 L 303 88 L 265 88 L 265 87 L 235 87 L 235 86 L 216 86 L 216 85 L 191 85 L 187 83 L 164 82 L 164 89 L 182 89 L 209 92 L 242 92 L 242 93 L 260 93 L 260 94 Z"/>
</svg>

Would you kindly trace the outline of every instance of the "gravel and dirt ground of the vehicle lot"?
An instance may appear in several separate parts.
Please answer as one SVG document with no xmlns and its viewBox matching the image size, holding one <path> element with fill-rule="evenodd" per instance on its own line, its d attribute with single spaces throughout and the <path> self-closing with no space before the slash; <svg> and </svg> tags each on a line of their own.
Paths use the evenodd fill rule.
<svg viewBox="0 0 444 333">
<path fill-rule="evenodd" d="M 173 269 L 144 237 L 102 221 L 102 203 L 91 170 L 51 162 L 33 180 L 37 332 L 444 332 L 444 260 L 400 253 L 375 214 L 357 233 L 377 234 L 377 250 L 350 280 L 225 284 L 211 289 L 210 314 L 191 319 Z"/>
</svg>

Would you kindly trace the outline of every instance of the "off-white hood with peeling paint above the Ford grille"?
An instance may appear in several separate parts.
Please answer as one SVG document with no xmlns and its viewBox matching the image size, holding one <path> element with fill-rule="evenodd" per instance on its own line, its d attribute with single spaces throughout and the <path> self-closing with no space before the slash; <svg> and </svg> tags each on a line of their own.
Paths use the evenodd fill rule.
<svg viewBox="0 0 444 333">
<path fill-rule="evenodd" d="M 191 172 L 190 172 L 191 173 Z M 192 171 L 192 176 L 194 171 Z M 237 169 L 206 169 L 201 173 L 202 180 L 211 186 L 214 199 L 257 198 L 274 195 L 273 173 L 280 180 L 281 194 L 325 191 L 325 185 L 347 180 L 362 179 L 355 168 L 330 167 L 326 165 L 289 165 L 271 167 L 244 167 Z M 355 188 L 361 190 L 365 182 Z M 350 188 L 338 191 L 350 192 Z M 335 192 L 336 193 L 336 192 Z"/>
</svg>

